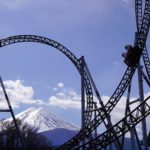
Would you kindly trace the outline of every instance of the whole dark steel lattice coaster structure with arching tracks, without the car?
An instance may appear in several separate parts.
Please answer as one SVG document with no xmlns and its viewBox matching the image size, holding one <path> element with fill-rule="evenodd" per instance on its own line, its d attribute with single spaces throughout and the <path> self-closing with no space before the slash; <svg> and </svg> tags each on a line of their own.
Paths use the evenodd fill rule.
<svg viewBox="0 0 150 150">
<path fill-rule="evenodd" d="M 143 73 L 142 78 L 145 78 L 148 85 L 150 85 L 150 59 L 146 48 L 146 40 L 150 26 L 150 0 L 135 0 L 135 14 L 137 32 L 134 46 L 142 49 L 142 58 L 147 73 L 146 76 L 143 72 L 141 72 Z M 141 103 L 134 110 L 130 110 L 130 107 L 127 106 L 124 118 L 122 118 L 118 123 L 113 125 L 110 118 L 111 111 L 115 108 L 126 89 L 131 87 L 131 81 L 135 71 L 137 69 L 138 71 L 141 71 L 140 62 L 133 67 L 127 67 L 114 93 L 104 105 L 83 57 L 82 59 L 77 58 L 71 51 L 60 43 L 37 35 L 17 35 L 1 39 L 0 47 L 20 42 L 37 42 L 58 49 L 70 59 L 81 75 L 83 91 L 85 89 L 86 94 L 86 97 L 84 97 L 84 93 L 82 94 L 83 99 L 86 98 L 86 108 L 83 112 L 84 126 L 76 136 L 57 148 L 58 150 L 103 149 L 107 148 L 111 143 L 114 143 L 117 149 L 123 149 L 123 146 L 120 145 L 119 142 L 120 138 L 124 137 L 125 133 L 131 131 L 131 129 L 134 129 L 136 134 L 135 126 L 150 114 L 150 97 L 147 97 L 144 100 L 141 96 L 140 99 L 143 99 Z M 93 100 L 93 89 L 99 100 L 100 107 L 95 106 L 96 104 Z M 130 95 L 130 88 L 128 90 L 128 95 Z M 129 98 L 130 97 L 128 97 L 128 99 Z M 142 108 L 144 108 L 144 110 L 142 110 Z M 96 115 L 93 118 L 94 112 L 96 112 Z M 97 137 L 91 138 L 92 133 L 96 131 L 101 124 L 104 124 L 106 131 Z"/>
</svg>

